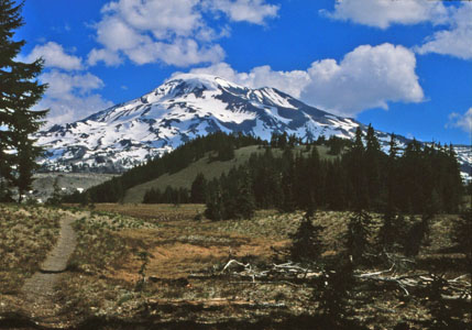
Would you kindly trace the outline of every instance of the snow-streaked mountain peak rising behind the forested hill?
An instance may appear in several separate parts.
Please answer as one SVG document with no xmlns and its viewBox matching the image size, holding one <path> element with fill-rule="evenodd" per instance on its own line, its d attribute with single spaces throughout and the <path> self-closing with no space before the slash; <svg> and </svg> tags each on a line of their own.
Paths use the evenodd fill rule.
<svg viewBox="0 0 472 330">
<path fill-rule="evenodd" d="M 216 131 L 268 140 L 351 139 L 360 122 L 309 107 L 274 88 L 250 89 L 210 75 L 183 74 L 147 95 L 83 120 L 39 132 L 51 170 L 123 170 Z M 377 132 L 383 142 L 388 135 Z M 400 140 L 406 142 L 406 139 Z"/>
</svg>

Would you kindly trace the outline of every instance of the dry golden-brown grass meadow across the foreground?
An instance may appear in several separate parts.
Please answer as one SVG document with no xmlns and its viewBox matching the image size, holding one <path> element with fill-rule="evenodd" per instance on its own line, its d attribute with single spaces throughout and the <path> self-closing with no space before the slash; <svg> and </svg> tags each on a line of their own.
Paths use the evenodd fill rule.
<svg viewBox="0 0 472 330">
<path fill-rule="evenodd" d="M 37 254 L 34 249 L 17 251 L 11 248 L 11 241 L 6 241 L 6 234 L 2 249 L 10 242 L 10 253 L 31 253 L 36 260 L 44 256 L 44 251 L 54 243 L 57 215 L 48 209 L 39 210 L 8 207 L 9 215 L 23 219 L 31 228 L 21 232 L 22 239 L 15 240 L 26 240 L 25 237 L 31 238 L 34 231 L 41 233 L 37 238 L 51 235 L 51 240 L 39 240 L 37 244 L 48 242 L 43 254 Z M 70 210 L 80 212 L 79 209 Z M 134 329 L 136 324 L 144 324 L 144 329 L 151 326 L 163 329 L 282 329 L 287 322 L 296 326 L 293 329 L 312 329 L 309 317 L 316 314 L 318 306 L 310 299 L 314 289 L 307 283 L 251 280 L 222 272 L 231 258 L 260 270 L 276 262 L 275 251 L 289 246 L 289 237 L 304 213 L 259 211 L 250 220 L 196 220 L 202 210 L 201 205 L 96 205 L 90 217 L 75 222 L 77 246 L 69 260 L 68 272 L 57 285 L 56 304 L 61 306 L 61 314 L 81 329 Z M 30 224 L 39 215 L 44 216 L 40 217 L 43 222 Z M 53 220 L 46 220 L 48 217 Z M 317 213 L 314 222 L 325 227 L 323 258 L 342 251 L 348 218 L 348 212 Z M 435 261 L 441 265 L 444 258 L 453 260 L 449 266 L 454 268 L 438 268 L 448 278 L 465 272 L 464 267 L 458 266 L 465 263 L 463 255 L 444 252 L 451 245 L 444 235 L 451 218 L 435 219 L 431 243 L 418 257 L 418 267 Z M 378 230 L 378 216 L 374 215 L 374 231 Z M 48 223 L 47 230 L 41 227 L 44 223 Z M 23 243 L 21 249 L 29 244 L 32 243 Z M 20 264 L 22 262 L 18 262 Z M 28 263 L 21 267 L 24 267 L 21 272 L 2 271 L 3 278 L 10 280 L 17 273 L 31 274 L 35 270 Z M 21 304 L 15 292 L 3 288 L 2 294 L 1 304 L 12 304 L 13 300 Z M 375 294 L 360 292 L 352 305 L 354 319 L 362 320 L 369 329 L 392 329 L 399 320 L 420 324 L 430 318 L 419 298 L 405 297 L 399 288 L 383 288 Z M 14 306 L 11 305 L 10 310 Z"/>
</svg>

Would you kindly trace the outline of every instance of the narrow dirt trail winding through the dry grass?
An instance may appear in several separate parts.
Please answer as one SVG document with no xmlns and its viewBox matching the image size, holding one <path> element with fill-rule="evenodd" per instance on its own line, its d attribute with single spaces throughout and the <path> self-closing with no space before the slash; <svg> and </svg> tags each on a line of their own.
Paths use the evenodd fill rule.
<svg viewBox="0 0 472 330">
<path fill-rule="evenodd" d="M 61 233 L 56 246 L 50 252 L 41 265 L 40 272 L 29 278 L 22 295 L 26 302 L 25 309 L 32 319 L 41 323 L 56 322 L 61 306 L 56 301 L 56 285 L 67 268 L 67 261 L 73 254 L 77 238 L 72 227 L 77 216 L 65 213 L 61 220 Z"/>
</svg>

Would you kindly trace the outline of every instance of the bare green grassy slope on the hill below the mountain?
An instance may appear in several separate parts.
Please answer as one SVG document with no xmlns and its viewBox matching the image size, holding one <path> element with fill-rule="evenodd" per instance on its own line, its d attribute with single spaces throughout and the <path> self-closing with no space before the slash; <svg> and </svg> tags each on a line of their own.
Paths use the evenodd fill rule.
<svg viewBox="0 0 472 330">
<path fill-rule="evenodd" d="M 318 146 L 320 158 L 333 158 L 336 156 L 328 155 L 329 148 L 326 146 Z M 305 153 L 305 146 L 297 146 L 295 152 Z M 213 179 L 215 177 L 221 176 L 223 173 L 228 173 L 232 167 L 243 165 L 246 163 L 253 153 L 264 153 L 264 148 L 257 145 L 250 145 L 241 147 L 234 151 L 234 158 L 228 162 L 209 162 L 209 156 L 205 156 L 197 162 L 190 164 L 190 166 L 174 173 L 164 174 L 156 179 L 134 186 L 128 189 L 123 201 L 124 202 L 142 202 L 144 194 L 151 188 L 158 188 L 163 191 L 167 186 L 173 188 L 190 188 L 191 183 L 198 173 L 202 173 L 207 179 Z M 273 154 L 276 157 L 282 156 L 283 151 L 279 148 L 273 148 Z"/>
</svg>

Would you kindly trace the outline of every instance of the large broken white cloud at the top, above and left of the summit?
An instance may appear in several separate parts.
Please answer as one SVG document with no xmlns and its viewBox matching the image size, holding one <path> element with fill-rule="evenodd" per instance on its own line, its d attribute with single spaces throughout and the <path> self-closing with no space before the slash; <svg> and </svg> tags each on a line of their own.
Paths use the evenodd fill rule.
<svg viewBox="0 0 472 330">
<path fill-rule="evenodd" d="M 164 63 L 189 66 L 219 63 L 224 57 L 215 43 L 227 36 L 227 25 L 216 31 L 205 13 L 224 13 L 230 21 L 263 24 L 276 16 L 278 7 L 265 0 L 118 0 L 102 8 L 96 24 L 101 48 L 89 53 L 88 63 L 119 65 L 123 57 L 138 65 Z"/>
</svg>

